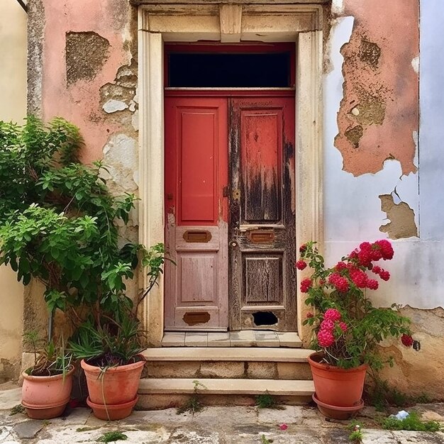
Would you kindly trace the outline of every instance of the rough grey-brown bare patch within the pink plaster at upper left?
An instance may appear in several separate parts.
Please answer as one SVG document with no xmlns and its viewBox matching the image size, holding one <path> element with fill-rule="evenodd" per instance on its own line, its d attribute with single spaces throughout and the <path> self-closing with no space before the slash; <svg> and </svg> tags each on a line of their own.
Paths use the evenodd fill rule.
<svg viewBox="0 0 444 444">
<path fill-rule="evenodd" d="M 91 80 L 109 57 L 109 41 L 94 32 L 66 33 L 66 82 Z"/>
</svg>

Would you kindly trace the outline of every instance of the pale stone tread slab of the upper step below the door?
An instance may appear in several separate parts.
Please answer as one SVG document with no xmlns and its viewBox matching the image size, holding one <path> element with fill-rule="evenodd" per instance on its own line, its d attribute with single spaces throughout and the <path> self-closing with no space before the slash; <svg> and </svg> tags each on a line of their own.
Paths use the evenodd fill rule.
<svg viewBox="0 0 444 444">
<path fill-rule="evenodd" d="M 313 350 L 306 348 L 147 348 L 142 352 L 147 361 L 243 361 L 243 362 L 307 362 Z"/>
</svg>

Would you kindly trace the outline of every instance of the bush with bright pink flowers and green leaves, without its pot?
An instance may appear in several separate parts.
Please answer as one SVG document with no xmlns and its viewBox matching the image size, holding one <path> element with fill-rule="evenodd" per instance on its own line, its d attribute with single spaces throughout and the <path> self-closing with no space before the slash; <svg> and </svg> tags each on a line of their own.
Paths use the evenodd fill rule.
<svg viewBox="0 0 444 444">
<path fill-rule="evenodd" d="M 395 306 L 375 308 L 367 296 L 367 291 L 379 287 L 378 279 L 390 278 L 374 262 L 391 260 L 392 244 L 388 240 L 363 242 L 332 268 L 325 267 L 315 244 L 302 245 L 295 264 L 298 270 L 307 266 L 313 270 L 300 284 L 301 292 L 308 295 L 306 304 L 313 308 L 304 321 L 313 328 L 311 346 L 323 352 L 328 364 L 353 368 L 368 363 L 379 370 L 384 365 L 377 348 L 381 340 L 401 337 L 406 347 L 413 343 L 409 318 L 401 316 Z"/>
</svg>

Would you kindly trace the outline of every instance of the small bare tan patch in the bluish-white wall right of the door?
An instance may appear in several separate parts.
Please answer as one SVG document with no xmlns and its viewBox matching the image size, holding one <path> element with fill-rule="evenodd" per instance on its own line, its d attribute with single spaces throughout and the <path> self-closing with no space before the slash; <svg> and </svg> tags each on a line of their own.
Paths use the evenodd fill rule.
<svg viewBox="0 0 444 444">
<path fill-rule="evenodd" d="M 391 239 L 418 237 L 415 213 L 408 204 L 402 201 L 396 204 L 392 194 L 382 194 L 379 199 L 382 211 L 387 213 L 390 220 L 386 225 L 380 226 L 379 231 L 387 233 Z"/>
</svg>

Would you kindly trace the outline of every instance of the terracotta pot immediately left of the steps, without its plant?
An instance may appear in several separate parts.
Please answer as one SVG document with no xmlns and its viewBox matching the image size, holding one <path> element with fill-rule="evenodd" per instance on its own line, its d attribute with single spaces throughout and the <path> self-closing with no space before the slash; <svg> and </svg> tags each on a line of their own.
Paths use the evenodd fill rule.
<svg viewBox="0 0 444 444">
<path fill-rule="evenodd" d="M 137 401 L 140 375 L 142 374 L 144 360 L 118 367 L 109 367 L 101 370 L 100 367 L 89 365 L 82 360 L 80 365 L 87 377 L 89 398 L 87 401 L 94 415 L 103 419 L 122 419 L 131 414 L 131 409 Z M 120 404 L 132 404 L 131 409 L 117 409 Z M 95 407 L 94 406 L 100 406 Z M 96 412 L 97 410 L 97 412 Z M 97 414 L 96 414 L 97 413 Z"/>
</svg>

